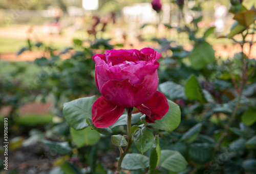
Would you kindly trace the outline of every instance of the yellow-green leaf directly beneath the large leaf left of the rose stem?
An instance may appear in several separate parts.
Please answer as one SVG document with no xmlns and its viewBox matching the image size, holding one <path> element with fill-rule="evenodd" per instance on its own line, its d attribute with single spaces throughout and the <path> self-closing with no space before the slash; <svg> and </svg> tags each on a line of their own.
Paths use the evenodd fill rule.
<svg viewBox="0 0 256 174">
<path fill-rule="evenodd" d="M 72 127 L 70 127 L 70 134 L 72 137 L 72 141 L 78 147 L 82 147 L 84 145 L 94 145 L 100 139 L 97 130 L 92 130 L 91 127 L 87 127 L 82 130 L 75 130 Z"/>
</svg>

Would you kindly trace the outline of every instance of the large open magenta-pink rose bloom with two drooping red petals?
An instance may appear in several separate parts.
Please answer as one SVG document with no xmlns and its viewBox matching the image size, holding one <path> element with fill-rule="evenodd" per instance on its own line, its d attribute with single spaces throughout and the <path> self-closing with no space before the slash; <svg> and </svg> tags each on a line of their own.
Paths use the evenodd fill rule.
<svg viewBox="0 0 256 174">
<path fill-rule="evenodd" d="M 157 60 L 161 53 L 142 50 L 106 50 L 93 56 L 95 83 L 102 94 L 93 104 L 96 127 L 114 124 L 125 107 L 136 107 L 148 123 L 161 119 L 169 110 L 165 96 L 157 91 Z"/>
</svg>

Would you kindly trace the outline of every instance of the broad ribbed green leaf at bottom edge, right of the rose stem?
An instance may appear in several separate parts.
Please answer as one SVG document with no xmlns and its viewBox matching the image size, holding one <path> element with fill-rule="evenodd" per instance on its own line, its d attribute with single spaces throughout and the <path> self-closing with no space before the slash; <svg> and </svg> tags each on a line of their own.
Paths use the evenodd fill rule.
<svg viewBox="0 0 256 174">
<path fill-rule="evenodd" d="M 161 150 L 161 159 L 159 164 L 167 170 L 181 172 L 186 169 L 188 163 L 178 151 Z"/>
</svg>

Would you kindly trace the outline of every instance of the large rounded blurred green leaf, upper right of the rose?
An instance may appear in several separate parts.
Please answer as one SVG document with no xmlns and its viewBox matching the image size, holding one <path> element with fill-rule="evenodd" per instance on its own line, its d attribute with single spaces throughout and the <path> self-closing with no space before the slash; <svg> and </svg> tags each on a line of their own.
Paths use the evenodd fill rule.
<svg viewBox="0 0 256 174">
<path fill-rule="evenodd" d="M 191 67 L 200 70 L 215 62 L 215 51 L 208 42 L 197 44 L 190 55 Z"/>
</svg>

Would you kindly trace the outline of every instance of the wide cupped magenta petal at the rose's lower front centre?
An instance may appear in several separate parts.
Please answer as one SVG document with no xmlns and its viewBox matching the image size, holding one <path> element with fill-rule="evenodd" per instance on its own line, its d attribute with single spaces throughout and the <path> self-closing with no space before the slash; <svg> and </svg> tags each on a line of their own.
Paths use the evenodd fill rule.
<svg viewBox="0 0 256 174">
<path fill-rule="evenodd" d="M 157 71 L 153 75 L 146 75 L 141 84 L 133 85 L 129 79 L 123 81 L 110 80 L 101 89 L 101 94 L 110 102 L 121 107 L 134 107 L 155 94 L 158 86 Z"/>
</svg>

